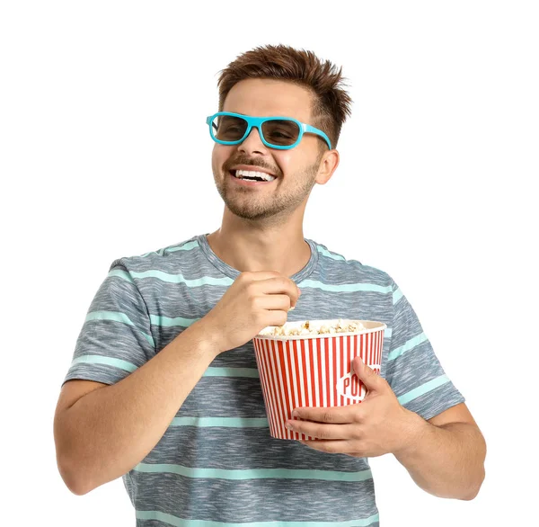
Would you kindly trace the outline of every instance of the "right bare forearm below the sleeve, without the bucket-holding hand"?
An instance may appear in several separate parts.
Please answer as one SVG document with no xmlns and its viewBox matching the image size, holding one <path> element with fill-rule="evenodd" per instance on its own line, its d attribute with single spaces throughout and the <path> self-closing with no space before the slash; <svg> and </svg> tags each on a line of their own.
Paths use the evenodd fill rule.
<svg viewBox="0 0 539 527">
<path fill-rule="evenodd" d="M 473 499 L 484 479 L 486 444 L 473 424 L 435 426 L 411 412 L 411 441 L 395 458 L 429 494 Z"/>
</svg>

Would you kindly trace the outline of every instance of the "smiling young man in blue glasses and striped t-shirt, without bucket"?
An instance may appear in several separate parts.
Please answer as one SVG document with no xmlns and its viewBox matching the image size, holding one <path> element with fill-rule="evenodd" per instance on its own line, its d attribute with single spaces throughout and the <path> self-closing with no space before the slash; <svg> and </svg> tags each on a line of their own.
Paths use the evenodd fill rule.
<svg viewBox="0 0 539 527">
<path fill-rule="evenodd" d="M 478 493 L 482 433 L 402 291 L 304 238 L 310 192 L 339 165 L 351 103 L 340 81 L 286 46 L 222 72 L 223 113 L 208 117 L 221 228 L 111 264 L 55 416 L 75 494 L 123 477 L 137 525 L 376 526 L 367 458 L 385 453 L 433 495 Z M 361 405 L 300 409 L 291 425 L 323 441 L 273 439 L 252 338 L 287 319 L 340 317 L 387 325 L 381 375 L 356 360 Z"/>
</svg>

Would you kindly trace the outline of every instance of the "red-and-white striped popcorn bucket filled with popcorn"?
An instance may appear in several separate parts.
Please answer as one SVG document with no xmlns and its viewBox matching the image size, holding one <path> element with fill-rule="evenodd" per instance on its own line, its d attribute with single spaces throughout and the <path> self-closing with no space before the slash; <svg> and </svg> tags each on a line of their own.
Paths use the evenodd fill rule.
<svg viewBox="0 0 539 527">
<path fill-rule="evenodd" d="M 343 326 L 343 322 L 346 326 L 360 323 L 365 328 L 355 332 L 317 333 L 319 327 L 339 327 L 338 323 Z M 270 335 L 275 326 L 268 326 L 253 338 L 270 434 L 276 439 L 316 440 L 285 427 L 294 408 L 354 405 L 365 398 L 365 385 L 351 371 L 351 362 L 356 356 L 380 374 L 387 327 L 384 323 L 311 320 L 308 326 L 311 331 L 314 328 L 316 334 Z M 296 330 L 296 333 L 302 327 L 305 327 L 304 321 L 287 322 L 282 326 L 283 330 Z"/>
</svg>

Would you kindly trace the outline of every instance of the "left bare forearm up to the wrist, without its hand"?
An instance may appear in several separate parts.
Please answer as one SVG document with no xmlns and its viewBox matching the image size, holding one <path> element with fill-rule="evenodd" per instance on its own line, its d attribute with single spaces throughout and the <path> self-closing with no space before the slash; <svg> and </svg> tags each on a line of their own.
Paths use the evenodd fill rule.
<svg viewBox="0 0 539 527">
<path fill-rule="evenodd" d="M 190 326 L 128 377 L 64 411 L 58 451 L 76 494 L 123 476 L 153 450 L 216 357 L 206 336 Z"/>
</svg>

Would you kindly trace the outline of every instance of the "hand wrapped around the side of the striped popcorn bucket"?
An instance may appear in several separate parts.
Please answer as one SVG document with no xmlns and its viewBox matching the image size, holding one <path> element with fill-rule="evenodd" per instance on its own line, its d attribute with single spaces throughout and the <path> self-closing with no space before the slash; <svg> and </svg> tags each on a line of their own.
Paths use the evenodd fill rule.
<svg viewBox="0 0 539 527">
<path fill-rule="evenodd" d="M 359 357 L 353 371 L 367 387 L 360 404 L 332 407 L 296 408 L 289 420 L 290 430 L 323 441 L 301 441 L 317 451 L 375 458 L 411 446 L 419 415 L 407 410 L 384 378 L 372 371 Z"/>
</svg>

